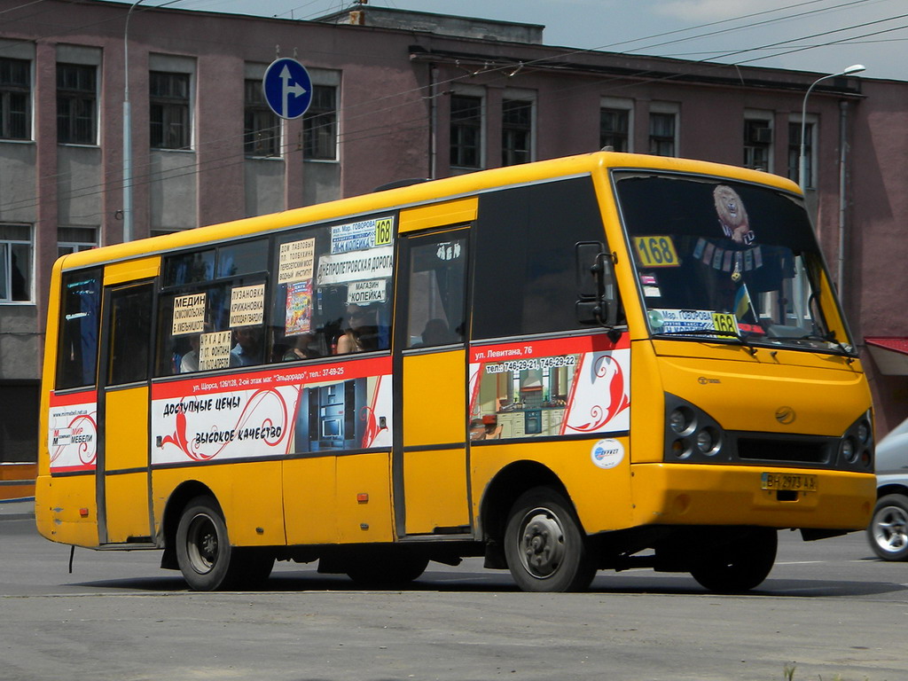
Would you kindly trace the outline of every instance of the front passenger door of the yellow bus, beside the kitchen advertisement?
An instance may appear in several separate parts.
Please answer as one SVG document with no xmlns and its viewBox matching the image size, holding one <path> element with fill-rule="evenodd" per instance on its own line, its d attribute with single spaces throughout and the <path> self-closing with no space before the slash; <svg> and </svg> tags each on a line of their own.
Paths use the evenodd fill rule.
<svg viewBox="0 0 908 681">
<path fill-rule="evenodd" d="M 401 214 L 401 231 L 406 225 Z M 394 320 L 399 537 L 471 531 L 466 443 L 469 229 L 400 235 Z"/>
</svg>

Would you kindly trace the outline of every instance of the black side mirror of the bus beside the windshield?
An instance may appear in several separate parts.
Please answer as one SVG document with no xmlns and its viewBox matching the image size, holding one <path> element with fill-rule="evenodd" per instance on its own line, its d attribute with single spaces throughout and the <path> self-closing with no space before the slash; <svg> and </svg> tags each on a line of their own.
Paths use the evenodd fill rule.
<svg viewBox="0 0 908 681">
<path fill-rule="evenodd" d="M 577 321 L 581 324 L 617 324 L 617 292 L 612 254 L 599 242 L 578 242 Z"/>
</svg>

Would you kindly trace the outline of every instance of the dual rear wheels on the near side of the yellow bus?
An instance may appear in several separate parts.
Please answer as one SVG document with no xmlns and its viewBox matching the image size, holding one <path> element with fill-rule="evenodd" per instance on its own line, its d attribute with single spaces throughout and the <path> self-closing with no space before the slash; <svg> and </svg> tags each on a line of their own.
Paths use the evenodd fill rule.
<svg viewBox="0 0 908 681">
<path fill-rule="evenodd" d="M 209 496 L 193 498 L 183 509 L 176 558 L 186 584 L 196 591 L 257 587 L 274 566 L 272 555 L 231 546 L 221 508 Z"/>
</svg>

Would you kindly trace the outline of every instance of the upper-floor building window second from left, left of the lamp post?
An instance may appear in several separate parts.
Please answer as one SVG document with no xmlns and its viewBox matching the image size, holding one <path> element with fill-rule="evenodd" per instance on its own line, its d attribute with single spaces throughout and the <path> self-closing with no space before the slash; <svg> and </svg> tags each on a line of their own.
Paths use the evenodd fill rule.
<svg viewBox="0 0 908 681">
<path fill-rule="evenodd" d="M 57 64 L 57 142 L 94 144 L 97 140 L 97 69 Z"/>
</svg>

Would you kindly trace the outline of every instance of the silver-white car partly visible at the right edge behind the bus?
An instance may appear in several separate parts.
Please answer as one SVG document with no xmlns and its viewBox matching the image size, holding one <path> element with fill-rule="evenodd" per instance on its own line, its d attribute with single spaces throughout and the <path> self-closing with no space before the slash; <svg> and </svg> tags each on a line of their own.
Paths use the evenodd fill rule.
<svg viewBox="0 0 908 681">
<path fill-rule="evenodd" d="M 883 560 L 908 560 L 908 419 L 876 445 L 876 508 L 867 528 Z"/>
</svg>

